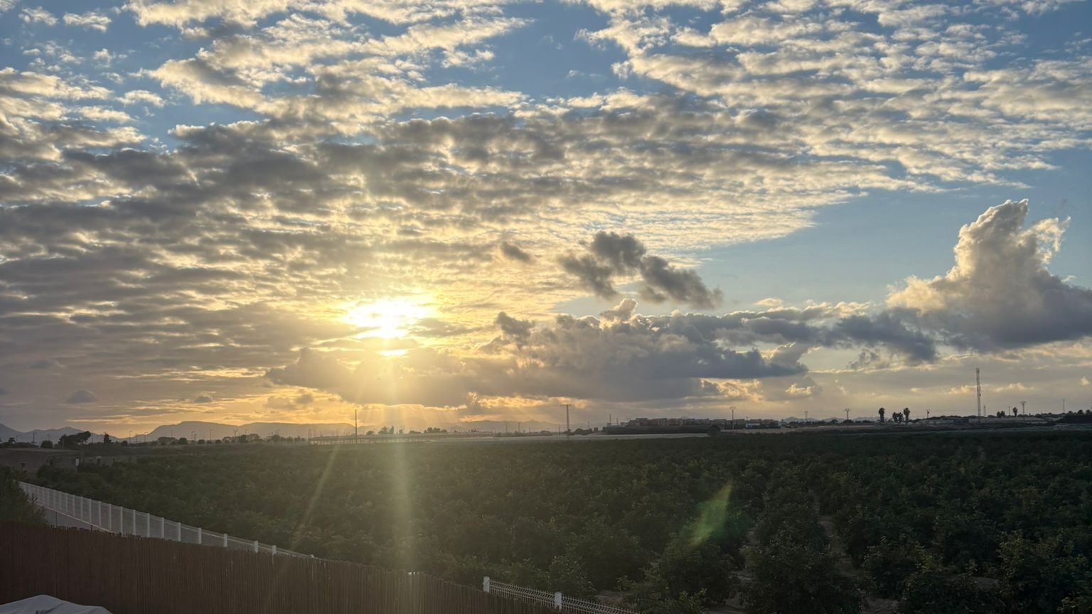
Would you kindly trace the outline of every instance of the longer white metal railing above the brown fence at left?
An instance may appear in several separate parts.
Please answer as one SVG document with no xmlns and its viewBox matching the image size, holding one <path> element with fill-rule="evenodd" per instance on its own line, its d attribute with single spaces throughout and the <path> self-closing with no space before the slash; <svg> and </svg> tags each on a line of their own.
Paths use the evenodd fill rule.
<svg viewBox="0 0 1092 614">
<path fill-rule="evenodd" d="M 201 527 L 190 527 L 175 520 L 152 516 L 145 511 L 126 509 L 112 504 L 88 499 L 71 493 L 62 493 L 36 484 L 20 482 L 23 492 L 40 508 L 57 512 L 93 529 L 135 535 L 138 538 L 154 538 L 170 540 L 186 544 L 229 547 L 250 552 L 269 554 L 286 554 L 288 556 L 307 556 L 290 550 L 278 548 L 275 545 L 262 544 L 257 540 L 240 540 L 227 533 L 206 531 Z"/>
</svg>

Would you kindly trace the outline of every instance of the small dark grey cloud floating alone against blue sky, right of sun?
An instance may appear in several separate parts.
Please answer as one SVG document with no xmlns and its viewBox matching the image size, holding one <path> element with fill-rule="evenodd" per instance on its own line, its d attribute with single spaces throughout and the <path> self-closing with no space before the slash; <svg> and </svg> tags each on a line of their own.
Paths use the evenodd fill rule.
<svg viewBox="0 0 1092 614">
<path fill-rule="evenodd" d="M 653 303 L 673 300 L 699 309 L 710 309 L 722 299 L 721 291 L 710 291 L 693 271 L 677 269 L 663 258 L 648 256 L 644 244 L 632 235 L 601 231 L 587 246 L 587 253 L 569 253 L 559 259 L 561 268 L 578 278 L 596 296 L 614 298 L 614 276 L 639 273 L 644 281 L 641 296 Z"/>
</svg>

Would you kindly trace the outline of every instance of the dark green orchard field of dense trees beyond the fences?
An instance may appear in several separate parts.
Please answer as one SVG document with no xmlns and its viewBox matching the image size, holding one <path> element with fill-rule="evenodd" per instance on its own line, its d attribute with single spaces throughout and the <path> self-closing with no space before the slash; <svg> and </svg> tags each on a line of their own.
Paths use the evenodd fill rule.
<svg viewBox="0 0 1092 614">
<path fill-rule="evenodd" d="M 621 591 L 648 612 L 741 591 L 756 614 L 866 597 L 1076 613 L 1092 611 L 1090 450 L 1081 432 L 251 445 L 37 481 L 317 556 Z"/>
</svg>

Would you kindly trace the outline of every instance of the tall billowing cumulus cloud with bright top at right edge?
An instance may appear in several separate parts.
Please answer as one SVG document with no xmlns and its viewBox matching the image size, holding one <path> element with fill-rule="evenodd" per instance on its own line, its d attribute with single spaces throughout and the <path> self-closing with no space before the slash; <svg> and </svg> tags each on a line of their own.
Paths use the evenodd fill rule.
<svg viewBox="0 0 1092 614">
<path fill-rule="evenodd" d="M 1046 268 L 1067 221 L 1024 228 L 1026 216 L 1026 200 L 990 206 L 960 229 L 947 274 L 907 279 L 888 305 L 958 347 L 996 351 L 1092 334 L 1092 290 Z"/>
</svg>

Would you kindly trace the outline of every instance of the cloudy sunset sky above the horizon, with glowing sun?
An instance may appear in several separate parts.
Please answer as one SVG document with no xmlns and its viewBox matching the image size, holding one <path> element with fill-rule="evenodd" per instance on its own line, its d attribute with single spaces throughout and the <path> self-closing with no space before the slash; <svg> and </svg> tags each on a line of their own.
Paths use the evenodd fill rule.
<svg viewBox="0 0 1092 614">
<path fill-rule="evenodd" d="M 0 423 L 1092 406 L 1092 5 L 0 0 Z"/>
</svg>

